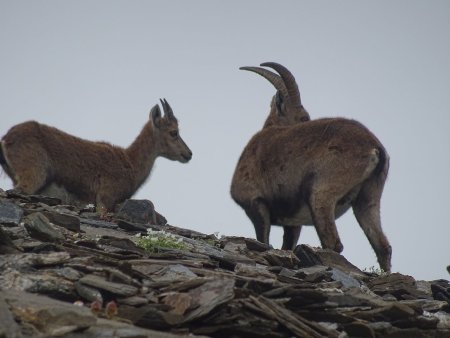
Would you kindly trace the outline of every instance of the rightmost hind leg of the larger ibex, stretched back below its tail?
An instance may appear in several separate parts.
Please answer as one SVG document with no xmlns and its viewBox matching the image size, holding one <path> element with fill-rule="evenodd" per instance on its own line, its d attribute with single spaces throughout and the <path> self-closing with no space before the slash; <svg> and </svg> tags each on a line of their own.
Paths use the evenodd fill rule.
<svg viewBox="0 0 450 338">
<path fill-rule="evenodd" d="M 365 182 L 353 203 L 353 212 L 375 251 L 380 267 L 384 271 L 390 272 L 392 248 L 383 233 L 380 219 L 382 189 L 382 185 L 380 186 L 374 180 Z"/>
</svg>

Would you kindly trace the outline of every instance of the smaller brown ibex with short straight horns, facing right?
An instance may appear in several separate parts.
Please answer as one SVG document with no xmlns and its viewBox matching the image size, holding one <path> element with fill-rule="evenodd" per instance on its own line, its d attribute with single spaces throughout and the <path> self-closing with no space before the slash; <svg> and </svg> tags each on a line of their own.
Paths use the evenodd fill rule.
<svg viewBox="0 0 450 338">
<path fill-rule="evenodd" d="M 181 139 L 172 108 L 161 100 L 128 148 L 91 142 L 56 128 L 24 122 L 1 141 L 0 163 L 14 189 L 26 194 L 61 187 L 102 212 L 131 197 L 150 174 L 158 156 L 188 162 L 192 152 Z M 53 189 L 54 190 L 54 189 Z"/>
</svg>

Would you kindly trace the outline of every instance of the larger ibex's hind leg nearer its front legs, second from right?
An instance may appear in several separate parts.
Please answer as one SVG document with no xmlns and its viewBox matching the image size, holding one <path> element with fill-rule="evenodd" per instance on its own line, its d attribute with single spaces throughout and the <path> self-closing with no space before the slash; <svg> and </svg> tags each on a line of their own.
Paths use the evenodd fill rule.
<svg viewBox="0 0 450 338">
<path fill-rule="evenodd" d="M 329 196 L 316 192 L 310 197 L 309 207 L 322 247 L 341 253 L 344 246 L 334 221 L 336 202 L 331 201 Z"/>
</svg>

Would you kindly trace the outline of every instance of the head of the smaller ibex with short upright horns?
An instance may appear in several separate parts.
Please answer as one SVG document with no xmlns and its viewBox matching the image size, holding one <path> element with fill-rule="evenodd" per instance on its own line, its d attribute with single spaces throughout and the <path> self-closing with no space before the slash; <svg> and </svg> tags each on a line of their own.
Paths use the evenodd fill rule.
<svg viewBox="0 0 450 338">
<path fill-rule="evenodd" d="M 180 137 L 178 120 L 167 100 L 160 101 L 164 109 L 164 117 L 161 116 L 159 105 L 155 105 L 150 111 L 154 133 L 158 134 L 155 139 L 159 142 L 160 155 L 172 161 L 189 162 L 192 152 Z"/>
</svg>

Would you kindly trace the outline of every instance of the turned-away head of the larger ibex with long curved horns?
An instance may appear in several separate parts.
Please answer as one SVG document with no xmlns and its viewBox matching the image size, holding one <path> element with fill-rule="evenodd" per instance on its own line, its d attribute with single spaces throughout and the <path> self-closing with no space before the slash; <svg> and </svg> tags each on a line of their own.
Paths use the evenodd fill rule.
<svg viewBox="0 0 450 338">
<path fill-rule="evenodd" d="M 286 126 L 309 121 L 309 114 L 302 105 L 297 82 L 292 73 L 275 62 L 265 62 L 261 66 L 273 68 L 279 75 L 260 67 L 241 67 L 240 69 L 261 75 L 277 89 L 264 127 Z"/>
</svg>

